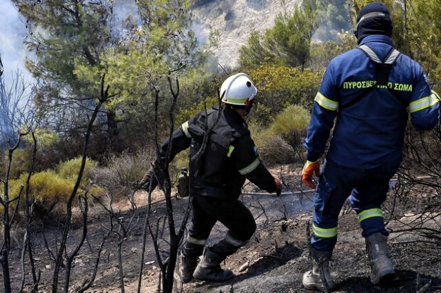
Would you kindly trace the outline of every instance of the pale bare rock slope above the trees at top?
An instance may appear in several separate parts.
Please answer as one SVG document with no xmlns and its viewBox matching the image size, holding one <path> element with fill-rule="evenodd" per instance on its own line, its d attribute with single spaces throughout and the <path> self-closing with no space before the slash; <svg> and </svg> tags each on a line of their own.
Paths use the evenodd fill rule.
<svg viewBox="0 0 441 293">
<path fill-rule="evenodd" d="M 283 3 L 284 2 L 284 3 Z M 223 67 L 238 65 L 239 49 L 253 30 L 264 33 L 280 12 L 291 12 L 301 0 L 217 0 L 196 1 L 194 31 L 205 41 L 210 25 L 220 32 L 215 54 Z"/>
</svg>

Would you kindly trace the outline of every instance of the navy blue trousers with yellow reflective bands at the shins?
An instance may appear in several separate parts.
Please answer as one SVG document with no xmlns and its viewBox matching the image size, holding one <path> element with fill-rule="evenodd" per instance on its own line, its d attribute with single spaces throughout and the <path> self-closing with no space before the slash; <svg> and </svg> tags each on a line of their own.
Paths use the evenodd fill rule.
<svg viewBox="0 0 441 293">
<path fill-rule="evenodd" d="M 320 251 L 334 249 L 338 215 L 348 197 L 358 215 L 363 237 L 376 232 L 389 235 L 384 228 L 381 204 L 386 200 L 389 180 L 399 166 L 400 161 L 374 169 L 351 169 L 326 160 L 314 194 L 311 245 Z"/>
</svg>

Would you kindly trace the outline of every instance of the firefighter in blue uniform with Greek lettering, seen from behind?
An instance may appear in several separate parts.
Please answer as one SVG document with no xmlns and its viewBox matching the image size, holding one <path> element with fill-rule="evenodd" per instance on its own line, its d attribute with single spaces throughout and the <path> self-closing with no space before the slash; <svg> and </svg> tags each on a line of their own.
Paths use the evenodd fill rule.
<svg viewBox="0 0 441 293">
<path fill-rule="evenodd" d="M 302 279 L 311 290 L 336 286 L 329 260 L 337 241 L 338 214 L 347 197 L 365 237 L 371 283 L 387 284 L 396 279 L 381 204 L 402 160 L 409 113 L 413 126 L 421 130 L 432 129 L 440 118 L 438 96 L 431 91 L 423 69 L 393 48 L 386 6 L 370 3 L 363 7 L 355 34 L 359 46 L 334 58 L 326 69 L 304 143 L 307 163 L 302 181 L 316 188 L 313 173 L 319 176 L 314 195 L 312 268 Z M 320 173 L 319 158 L 333 127 Z"/>
</svg>

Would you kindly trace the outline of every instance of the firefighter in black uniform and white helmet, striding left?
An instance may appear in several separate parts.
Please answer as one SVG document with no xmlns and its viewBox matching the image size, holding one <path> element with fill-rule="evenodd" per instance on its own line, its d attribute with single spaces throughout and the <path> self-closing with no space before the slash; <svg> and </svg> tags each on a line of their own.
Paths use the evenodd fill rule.
<svg viewBox="0 0 441 293">
<path fill-rule="evenodd" d="M 230 76 L 220 88 L 225 107 L 202 111 L 173 133 L 170 160 L 190 147 L 190 193 L 194 196 L 192 223 L 181 250 L 184 283 L 193 277 L 221 282 L 234 276 L 231 270 L 222 270 L 220 263 L 244 246 L 256 230 L 252 213 L 238 200 L 245 178 L 269 193 L 280 195 L 280 181 L 260 161 L 244 120 L 256 93 L 247 74 Z M 206 144 L 203 143 L 205 133 Z M 158 160 L 165 160 L 169 142 L 168 139 L 163 142 Z M 152 170 L 140 184 L 146 189 L 156 186 Z M 204 250 L 216 221 L 229 230 L 224 239 Z M 203 257 L 198 263 L 201 254 Z"/>
</svg>

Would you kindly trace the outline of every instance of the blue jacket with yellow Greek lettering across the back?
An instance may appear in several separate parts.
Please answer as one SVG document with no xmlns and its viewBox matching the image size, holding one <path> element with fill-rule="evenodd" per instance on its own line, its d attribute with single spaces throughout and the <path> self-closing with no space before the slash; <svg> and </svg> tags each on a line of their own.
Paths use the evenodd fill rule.
<svg viewBox="0 0 441 293">
<path fill-rule="evenodd" d="M 381 60 L 393 50 L 388 36 L 370 35 L 362 40 L 363 44 Z M 351 102 L 363 93 L 363 98 Z M 337 118 L 327 151 L 330 160 L 355 169 L 401 160 L 409 113 L 413 126 L 422 130 L 432 129 L 440 119 L 438 98 L 416 61 L 400 54 L 392 65 L 387 86 L 381 86 L 376 85 L 375 63 L 364 52 L 345 52 L 329 63 L 314 99 L 303 144 L 307 159 L 316 161 L 325 152 Z"/>
</svg>

